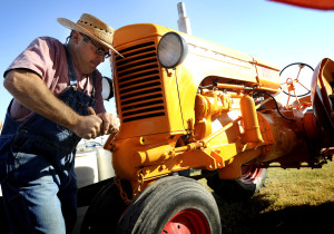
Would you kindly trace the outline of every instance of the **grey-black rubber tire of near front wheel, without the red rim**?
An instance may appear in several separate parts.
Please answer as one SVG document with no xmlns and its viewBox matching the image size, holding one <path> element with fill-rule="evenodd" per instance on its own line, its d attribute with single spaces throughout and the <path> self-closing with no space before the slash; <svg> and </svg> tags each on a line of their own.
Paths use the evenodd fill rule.
<svg viewBox="0 0 334 234">
<path fill-rule="evenodd" d="M 155 182 L 132 202 L 122 215 L 117 233 L 161 233 L 175 214 L 187 208 L 204 214 L 212 233 L 222 232 L 219 211 L 212 193 L 194 179 L 168 176 Z"/>
</svg>

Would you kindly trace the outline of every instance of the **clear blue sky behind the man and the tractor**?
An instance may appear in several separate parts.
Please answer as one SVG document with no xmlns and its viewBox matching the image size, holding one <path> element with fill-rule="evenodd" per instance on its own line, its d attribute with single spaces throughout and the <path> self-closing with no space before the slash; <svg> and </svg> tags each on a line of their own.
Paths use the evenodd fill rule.
<svg viewBox="0 0 334 234">
<path fill-rule="evenodd" d="M 87 12 L 115 29 L 153 22 L 177 29 L 179 0 L 1 0 L 0 74 L 39 36 L 65 41 L 69 30 L 56 19 L 77 21 Z M 283 68 L 302 61 L 315 67 L 334 59 L 334 11 L 303 9 L 266 0 L 184 0 L 193 35 L 265 59 Z M 99 66 L 110 77 L 108 62 Z M 0 119 L 11 96 L 0 82 Z M 115 113 L 114 100 L 106 103 Z"/>
</svg>

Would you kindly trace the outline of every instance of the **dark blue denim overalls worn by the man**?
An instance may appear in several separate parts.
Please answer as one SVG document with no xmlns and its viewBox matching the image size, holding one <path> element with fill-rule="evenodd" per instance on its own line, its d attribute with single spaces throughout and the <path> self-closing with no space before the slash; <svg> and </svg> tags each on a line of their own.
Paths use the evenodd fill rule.
<svg viewBox="0 0 334 234">
<path fill-rule="evenodd" d="M 69 87 L 59 98 L 80 115 L 95 99 Z M 70 233 L 77 217 L 75 152 L 80 138 L 35 115 L 7 113 L 0 136 L 1 187 L 12 233 Z"/>
</svg>

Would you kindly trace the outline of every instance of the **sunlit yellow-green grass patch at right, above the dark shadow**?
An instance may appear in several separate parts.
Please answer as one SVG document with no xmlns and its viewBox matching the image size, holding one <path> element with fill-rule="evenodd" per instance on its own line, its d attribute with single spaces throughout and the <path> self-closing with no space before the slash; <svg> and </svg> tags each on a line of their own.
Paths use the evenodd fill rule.
<svg viewBox="0 0 334 234">
<path fill-rule="evenodd" d="M 272 168 L 266 185 L 263 196 L 273 203 L 269 209 L 334 203 L 334 163 L 321 169 Z"/>
</svg>

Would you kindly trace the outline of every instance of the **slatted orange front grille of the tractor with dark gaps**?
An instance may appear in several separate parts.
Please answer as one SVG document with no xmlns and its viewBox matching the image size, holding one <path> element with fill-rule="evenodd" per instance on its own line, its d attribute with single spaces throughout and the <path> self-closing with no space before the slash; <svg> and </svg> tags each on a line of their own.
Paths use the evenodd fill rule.
<svg viewBox="0 0 334 234">
<path fill-rule="evenodd" d="M 161 79 L 155 42 L 119 51 L 116 60 L 122 121 L 165 116 Z"/>
</svg>

